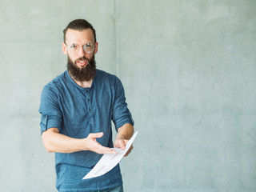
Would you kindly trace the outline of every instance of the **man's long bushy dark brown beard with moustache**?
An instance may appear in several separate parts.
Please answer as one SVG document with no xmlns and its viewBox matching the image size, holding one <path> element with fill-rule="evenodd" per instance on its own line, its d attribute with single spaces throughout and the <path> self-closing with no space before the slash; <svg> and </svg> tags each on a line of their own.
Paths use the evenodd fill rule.
<svg viewBox="0 0 256 192">
<path fill-rule="evenodd" d="M 75 63 L 80 60 L 86 60 L 88 62 L 87 66 L 84 66 L 82 68 L 76 66 Z M 94 55 L 90 60 L 88 58 L 82 57 L 74 60 L 74 62 L 72 62 L 70 56 L 68 56 L 66 67 L 70 73 L 70 76 L 78 82 L 90 81 L 94 78 L 94 74 L 96 73 L 96 62 Z"/>
</svg>

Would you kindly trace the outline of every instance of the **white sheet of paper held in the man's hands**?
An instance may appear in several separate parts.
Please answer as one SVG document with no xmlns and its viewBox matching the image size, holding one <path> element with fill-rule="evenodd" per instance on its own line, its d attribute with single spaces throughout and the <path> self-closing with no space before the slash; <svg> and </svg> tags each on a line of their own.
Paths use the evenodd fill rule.
<svg viewBox="0 0 256 192">
<path fill-rule="evenodd" d="M 112 170 L 114 166 L 118 165 L 118 162 L 121 161 L 127 150 L 130 149 L 130 146 L 133 144 L 137 134 L 138 131 L 136 131 L 133 137 L 130 138 L 130 140 L 126 143 L 125 150 L 121 150 L 120 148 L 111 148 L 112 150 L 115 150 L 117 154 L 103 154 L 102 158 L 98 161 L 94 168 L 90 170 L 90 172 L 82 179 L 96 178 Z"/>
</svg>

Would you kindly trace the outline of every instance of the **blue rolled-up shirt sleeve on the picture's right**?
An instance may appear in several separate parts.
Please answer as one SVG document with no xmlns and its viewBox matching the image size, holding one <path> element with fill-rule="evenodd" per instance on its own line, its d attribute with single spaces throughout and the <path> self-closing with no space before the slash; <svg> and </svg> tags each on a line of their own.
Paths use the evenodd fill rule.
<svg viewBox="0 0 256 192">
<path fill-rule="evenodd" d="M 130 123 L 134 126 L 134 120 L 127 107 L 125 90 L 123 89 L 122 82 L 118 78 L 115 82 L 114 104 L 112 109 L 112 120 L 116 130 L 126 123 Z"/>
</svg>

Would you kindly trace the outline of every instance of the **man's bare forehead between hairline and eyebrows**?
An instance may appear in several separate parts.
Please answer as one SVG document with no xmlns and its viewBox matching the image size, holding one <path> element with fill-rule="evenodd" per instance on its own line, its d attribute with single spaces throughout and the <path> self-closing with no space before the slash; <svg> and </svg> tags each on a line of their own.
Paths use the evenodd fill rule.
<svg viewBox="0 0 256 192">
<path fill-rule="evenodd" d="M 94 34 L 91 29 L 66 31 L 66 43 L 86 44 L 94 42 Z"/>
</svg>

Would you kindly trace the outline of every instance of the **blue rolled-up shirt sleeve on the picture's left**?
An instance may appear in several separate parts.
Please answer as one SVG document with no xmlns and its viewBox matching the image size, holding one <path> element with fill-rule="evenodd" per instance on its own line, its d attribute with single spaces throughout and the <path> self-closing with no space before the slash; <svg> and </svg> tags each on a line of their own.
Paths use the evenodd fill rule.
<svg viewBox="0 0 256 192">
<path fill-rule="evenodd" d="M 41 134 L 49 128 L 62 127 L 62 112 L 58 104 L 58 94 L 50 86 L 42 90 L 39 113 L 41 114 Z"/>
</svg>

